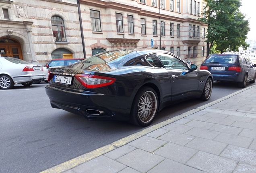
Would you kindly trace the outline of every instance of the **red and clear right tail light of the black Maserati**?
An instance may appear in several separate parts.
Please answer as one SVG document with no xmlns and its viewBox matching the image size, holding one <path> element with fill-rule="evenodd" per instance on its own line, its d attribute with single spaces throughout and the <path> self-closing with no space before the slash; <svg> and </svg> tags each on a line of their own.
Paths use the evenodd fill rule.
<svg viewBox="0 0 256 173">
<path fill-rule="evenodd" d="M 81 84 L 83 84 L 84 87 L 89 89 L 105 87 L 113 84 L 116 81 L 116 78 L 91 74 L 76 74 L 74 76 Z"/>
</svg>

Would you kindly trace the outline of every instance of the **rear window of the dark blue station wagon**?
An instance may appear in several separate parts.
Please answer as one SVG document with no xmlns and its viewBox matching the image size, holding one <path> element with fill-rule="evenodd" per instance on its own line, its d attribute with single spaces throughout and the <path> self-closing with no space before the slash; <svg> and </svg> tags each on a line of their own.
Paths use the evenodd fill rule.
<svg viewBox="0 0 256 173">
<path fill-rule="evenodd" d="M 205 63 L 229 64 L 236 63 L 237 55 L 211 55 Z"/>
</svg>

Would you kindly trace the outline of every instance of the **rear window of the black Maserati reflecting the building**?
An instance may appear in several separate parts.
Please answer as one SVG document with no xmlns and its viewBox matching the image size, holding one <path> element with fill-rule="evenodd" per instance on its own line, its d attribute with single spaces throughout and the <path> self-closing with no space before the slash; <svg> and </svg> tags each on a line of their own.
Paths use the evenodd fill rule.
<svg viewBox="0 0 256 173">
<path fill-rule="evenodd" d="M 123 62 L 126 58 L 130 57 L 131 55 L 135 54 L 136 51 L 134 50 L 116 50 L 116 51 L 107 51 L 101 52 L 99 54 L 95 54 L 83 61 L 83 69 L 95 69 L 99 70 L 99 66 L 95 66 L 96 64 L 101 64 L 101 68 L 117 68 L 117 65 Z"/>
</svg>

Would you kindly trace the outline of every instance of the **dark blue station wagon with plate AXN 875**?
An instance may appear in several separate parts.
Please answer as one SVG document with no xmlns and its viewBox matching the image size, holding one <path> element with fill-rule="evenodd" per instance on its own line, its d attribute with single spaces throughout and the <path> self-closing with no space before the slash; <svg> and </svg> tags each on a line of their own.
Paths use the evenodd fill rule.
<svg viewBox="0 0 256 173">
<path fill-rule="evenodd" d="M 238 82 L 241 88 L 255 82 L 256 64 L 244 54 L 211 54 L 201 64 L 200 70 L 209 70 L 214 81 Z"/>
</svg>

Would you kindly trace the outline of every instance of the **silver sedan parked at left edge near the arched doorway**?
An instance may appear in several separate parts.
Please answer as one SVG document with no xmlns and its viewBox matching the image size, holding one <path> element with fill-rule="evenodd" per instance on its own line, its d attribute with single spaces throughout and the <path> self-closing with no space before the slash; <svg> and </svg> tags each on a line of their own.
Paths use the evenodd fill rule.
<svg viewBox="0 0 256 173">
<path fill-rule="evenodd" d="M 0 57 L 0 89 L 12 89 L 15 83 L 29 86 L 34 80 L 44 80 L 41 64 L 31 64 L 11 57 Z"/>
</svg>

